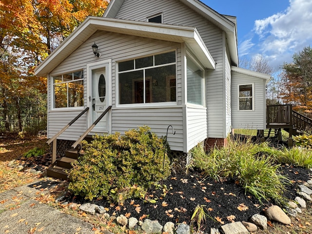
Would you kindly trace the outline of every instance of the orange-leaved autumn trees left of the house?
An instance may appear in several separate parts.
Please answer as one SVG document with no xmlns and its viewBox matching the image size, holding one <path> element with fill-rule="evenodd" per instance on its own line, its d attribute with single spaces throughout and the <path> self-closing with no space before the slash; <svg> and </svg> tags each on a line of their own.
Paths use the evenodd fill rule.
<svg viewBox="0 0 312 234">
<path fill-rule="evenodd" d="M 46 118 L 46 78 L 34 76 L 34 69 L 87 16 L 102 16 L 107 4 L 106 0 L 0 0 L 0 131 L 10 131 L 12 119 L 22 131 L 22 117 L 34 118 L 34 106 L 37 114 L 39 106 L 43 108 L 40 115 Z M 36 100 L 30 100 L 34 96 Z"/>
</svg>

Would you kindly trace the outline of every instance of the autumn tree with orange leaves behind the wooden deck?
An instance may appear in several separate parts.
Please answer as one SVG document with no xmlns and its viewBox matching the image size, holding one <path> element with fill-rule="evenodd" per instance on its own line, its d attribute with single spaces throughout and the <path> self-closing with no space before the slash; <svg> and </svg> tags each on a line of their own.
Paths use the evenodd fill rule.
<svg viewBox="0 0 312 234">
<path fill-rule="evenodd" d="M 284 63 L 282 68 L 282 92 L 284 103 L 293 109 L 312 117 L 312 48 L 304 47 L 292 57 L 292 63 Z"/>
</svg>

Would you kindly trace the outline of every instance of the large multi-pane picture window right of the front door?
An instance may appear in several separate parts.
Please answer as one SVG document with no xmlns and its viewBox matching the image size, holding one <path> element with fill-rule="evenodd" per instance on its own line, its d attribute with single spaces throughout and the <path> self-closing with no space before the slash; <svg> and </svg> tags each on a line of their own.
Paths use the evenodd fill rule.
<svg viewBox="0 0 312 234">
<path fill-rule="evenodd" d="M 176 101 L 176 52 L 118 63 L 119 104 Z"/>
</svg>

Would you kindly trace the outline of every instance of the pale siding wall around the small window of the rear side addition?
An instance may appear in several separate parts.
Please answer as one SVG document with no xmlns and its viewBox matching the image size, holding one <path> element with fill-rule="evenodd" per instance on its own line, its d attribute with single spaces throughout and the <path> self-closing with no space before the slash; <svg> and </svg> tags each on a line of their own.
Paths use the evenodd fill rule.
<svg viewBox="0 0 312 234">
<path fill-rule="evenodd" d="M 254 111 L 238 111 L 238 85 L 254 84 Z M 266 128 L 265 79 L 232 71 L 232 127 L 234 129 Z"/>
</svg>

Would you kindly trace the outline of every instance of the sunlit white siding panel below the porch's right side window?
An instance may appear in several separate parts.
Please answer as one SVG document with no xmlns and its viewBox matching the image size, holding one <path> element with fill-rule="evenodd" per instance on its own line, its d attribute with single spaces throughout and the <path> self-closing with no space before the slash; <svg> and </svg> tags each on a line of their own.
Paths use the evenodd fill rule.
<svg viewBox="0 0 312 234">
<path fill-rule="evenodd" d="M 206 108 L 186 108 L 187 114 L 187 151 L 207 138 Z"/>
</svg>

